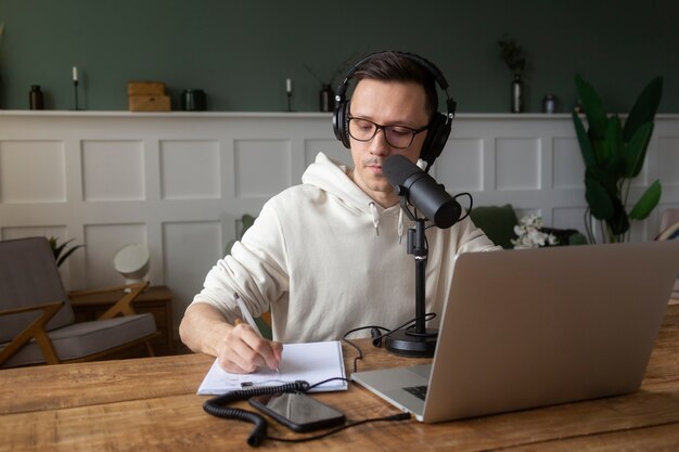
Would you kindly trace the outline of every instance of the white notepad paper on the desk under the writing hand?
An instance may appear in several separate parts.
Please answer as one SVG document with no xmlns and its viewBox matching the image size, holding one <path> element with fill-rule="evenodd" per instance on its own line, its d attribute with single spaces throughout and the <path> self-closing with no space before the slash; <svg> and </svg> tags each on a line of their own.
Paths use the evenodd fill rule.
<svg viewBox="0 0 679 452">
<path fill-rule="evenodd" d="M 223 371 L 215 360 L 198 387 L 197 393 L 221 395 L 248 387 L 278 386 L 296 380 L 305 380 L 313 385 L 328 378 L 346 378 L 342 345 L 337 340 L 285 344 L 279 370 L 280 373 L 268 367 L 260 367 L 252 374 L 232 374 Z M 333 380 L 311 389 L 310 392 L 346 389 L 346 382 Z"/>
</svg>

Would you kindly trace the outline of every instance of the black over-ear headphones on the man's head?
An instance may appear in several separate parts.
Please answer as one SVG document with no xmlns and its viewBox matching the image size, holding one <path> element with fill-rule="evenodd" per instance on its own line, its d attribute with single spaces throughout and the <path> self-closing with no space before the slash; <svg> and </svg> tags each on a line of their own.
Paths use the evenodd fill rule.
<svg viewBox="0 0 679 452">
<path fill-rule="evenodd" d="M 337 94 L 335 95 L 335 111 L 332 117 L 332 126 L 333 131 L 335 132 L 335 137 L 347 148 L 350 148 L 351 146 L 351 142 L 349 140 L 349 102 L 346 99 L 346 91 L 349 88 L 349 81 L 354 77 L 356 70 L 363 63 L 382 53 L 386 52 L 372 53 L 356 63 L 344 78 L 342 85 L 340 85 L 340 87 L 337 88 Z M 446 92 L 446 105 L 448 107 L 448 114 L 443 114 L 439 112 L 434 113 L 434 117 L 430 121 L 426 139 L 422 144 L 422 151 L 420 153 L 420 158 L 427 163 L 428 171 L 432 165 L 434 165 L 434 160 L 436 160 L 436 157 L 438 157 L 444 151 L 444 146 L 448 141 L 448 135 L 450 135 L 450 129 L 452 127 L 452 119 L 454 118 L 457 103 L 450 96 L 450 94 L 448 94 L 448 82 L 446 81 L 444 74 L 433 63 L 428 62 L 422 56 L 415 55 L 414 53 L 396 53 L 399 56 L 407 57 L 408 60 L 411 60 L 420 66 L 424 67 L 426 72 L 428 72 L 432 77 L 434 77 L 436 83 L 440 87 L 440 89 Z"/>
</svg>

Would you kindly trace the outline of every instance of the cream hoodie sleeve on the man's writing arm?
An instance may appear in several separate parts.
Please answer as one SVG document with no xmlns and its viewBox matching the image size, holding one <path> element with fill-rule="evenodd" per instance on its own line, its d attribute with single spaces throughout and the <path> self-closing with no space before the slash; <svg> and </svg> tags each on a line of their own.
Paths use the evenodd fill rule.
<svg viewBox="0 0 679 452">
<path fill-rule="evenodd" d="M 234 315 L 240 317 L 233 294 L 239 294 L 253 317 L 259 317 L 287 292 L 285 240 L 271 204 L 264 206 L 231 255 L 218 260 L 207 273 L 193 302 L 209 304 L 232 322 Z"/>
</svg>

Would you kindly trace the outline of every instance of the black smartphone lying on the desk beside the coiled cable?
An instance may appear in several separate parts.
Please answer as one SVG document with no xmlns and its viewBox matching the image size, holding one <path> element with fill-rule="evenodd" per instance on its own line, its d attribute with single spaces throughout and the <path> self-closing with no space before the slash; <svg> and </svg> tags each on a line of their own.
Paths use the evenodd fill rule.
<svg viewBox="0 0 679 452">
<path fill-rule="evenodd" d="M 341 411 L 302 392 L 253 397 L 249 404 L 295 431 L 332 427 L 346 421 Z"/>
</svg>

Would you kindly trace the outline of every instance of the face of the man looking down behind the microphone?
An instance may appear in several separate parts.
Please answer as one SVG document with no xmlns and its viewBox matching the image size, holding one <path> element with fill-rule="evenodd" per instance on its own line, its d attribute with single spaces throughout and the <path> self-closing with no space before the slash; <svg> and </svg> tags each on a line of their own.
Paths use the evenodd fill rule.
<svg viewBox="0 0 679 452">
<path fill-rule="evenodd" d="M 414 82 L 362 79 L 351 96 L 353 118 L 368 119 L 382 126 L 403 126 L 420 130 L 428 124 L 424 88 Z M 398 203 L 394 186 L 382 173 L 384 160 L 400 154 L 412 163 L 418 162 L 426 130 L 414 135 L 410 146 L 396 148 L 385 139 L 384 130 L 377 130 L 370 141 L 350 138 L 354 159 L 354 181 L 383 207 Z"/>
</svg>

